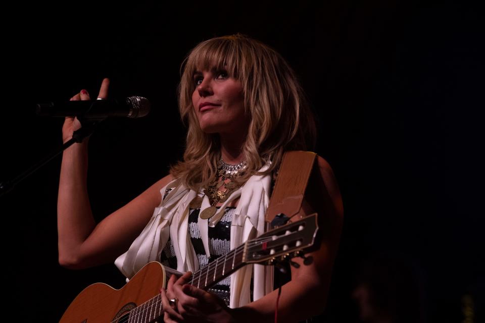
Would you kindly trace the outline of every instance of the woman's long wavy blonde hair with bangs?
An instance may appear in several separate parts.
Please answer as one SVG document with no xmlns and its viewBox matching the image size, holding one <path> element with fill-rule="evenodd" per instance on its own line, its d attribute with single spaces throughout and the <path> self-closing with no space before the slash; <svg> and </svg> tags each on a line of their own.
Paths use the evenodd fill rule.
<svg viewBox="0 0 485 323">
<path fill-rule="evenodd" d="M 254 174 L 270 174 L 279 167 L 285 150 L 313 150 L 316 141 L 314 115 L 292 68 L 272 48 L 248 36 L 236 34 L 212 38 L 193 48 L 181 66 L 178 105 L 188 126 L 183 160 L 170 173 L 189 188 L 205 188 L 217 176 L 220 158 L 218 134 L 201 130 L 193 110 L 196 70 L 224 69 L 241 82 L 250 125 L 242 149 L 247 171 L 238 181 Z M 258 172 L 268 160 L 271 166 Z"/>
</svg>

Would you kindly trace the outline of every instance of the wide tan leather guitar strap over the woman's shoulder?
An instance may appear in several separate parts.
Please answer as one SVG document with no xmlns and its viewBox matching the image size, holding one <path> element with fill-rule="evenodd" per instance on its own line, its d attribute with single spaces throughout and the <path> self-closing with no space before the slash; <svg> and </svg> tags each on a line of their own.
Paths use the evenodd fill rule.
<svg viewBox="0 0 485 323">
<path fill-rule="evenodd" d="M 312 151 L 291 150 L 284 153 L 266 210 L 267 224 L 270 224 L 279 213 L 285 214 L 288 218 L 299 214 L 298 219 L 307 214 L 304 210 L 305 190 L 316 156 L 317 154 Z"/>
</svg>

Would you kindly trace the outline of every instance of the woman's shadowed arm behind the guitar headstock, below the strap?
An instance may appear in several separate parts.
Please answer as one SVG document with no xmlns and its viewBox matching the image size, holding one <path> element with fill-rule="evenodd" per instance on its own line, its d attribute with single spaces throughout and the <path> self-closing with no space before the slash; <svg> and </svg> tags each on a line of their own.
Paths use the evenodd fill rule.
<svg viewBox="0 0 485 323">
<path fill-rule="evenodd" d="M 295 322 L 317 315 L 324 310 L 333 262 L 343 225 L 344 208 L 338 185 L 330 165 L 317 157 L 320 176 L 309 182 L 306 200 L 318 213 L 319 234 L 322 235 L 320 249 L 306 254 L 313 257 L 309 265 L 301 258 L 293 258 L 300 264 L 292 266 L 292 280 L 281 288 L 278 300 L 278 322 Z M 273 322 L 278 290 L 246 306 L 234 309 L 236 321 Z"/>
</svg>

